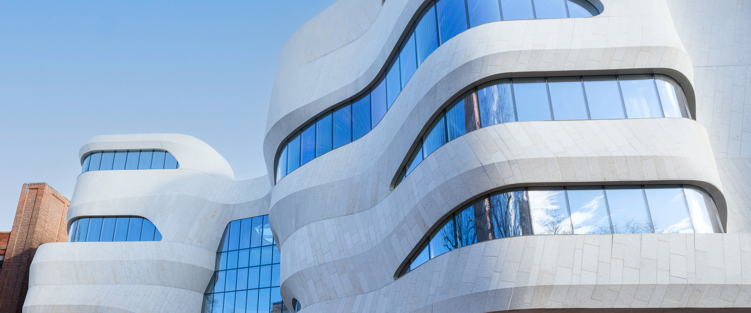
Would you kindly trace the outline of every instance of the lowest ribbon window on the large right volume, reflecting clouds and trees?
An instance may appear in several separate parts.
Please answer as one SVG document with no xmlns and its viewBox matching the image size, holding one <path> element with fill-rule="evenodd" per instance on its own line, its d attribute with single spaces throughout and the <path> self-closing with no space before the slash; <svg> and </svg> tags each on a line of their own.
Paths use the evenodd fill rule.
<svg viewBox="0 0 751 313">
<path fill-rule="evenodd" d="M 714 200 L 692 185 L 512 188 L 451 214 L 401 275 L 464 245 L 523 235 L 722 233 Z"/>
</svg>

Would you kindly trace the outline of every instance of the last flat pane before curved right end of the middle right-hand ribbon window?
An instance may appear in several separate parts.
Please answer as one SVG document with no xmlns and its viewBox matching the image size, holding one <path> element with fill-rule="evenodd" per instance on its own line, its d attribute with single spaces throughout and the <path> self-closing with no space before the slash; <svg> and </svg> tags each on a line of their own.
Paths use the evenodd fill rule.
<svg viewBox="0 0 751 313">
<path fill-rule="evenodd" d="M 629 119 L 663 117 L 651 75 L 620 75 L 618 81 Z"/>
</svg>

